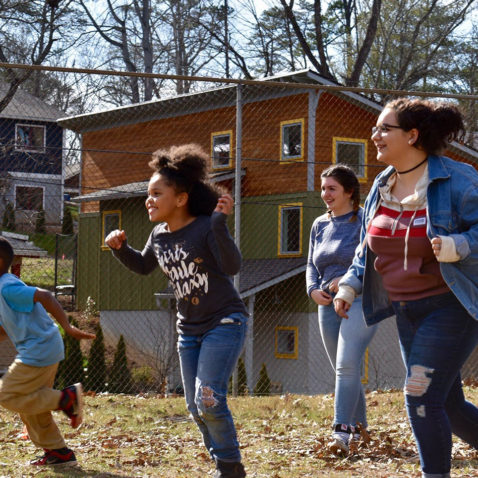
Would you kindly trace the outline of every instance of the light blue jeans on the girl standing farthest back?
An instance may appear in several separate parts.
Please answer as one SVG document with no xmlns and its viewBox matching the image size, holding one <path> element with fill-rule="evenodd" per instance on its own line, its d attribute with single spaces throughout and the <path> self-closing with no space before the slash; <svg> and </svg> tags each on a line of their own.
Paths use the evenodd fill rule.
<svg viewBox="0 0 478 478">
<path fill-rule="evenodd" d="M 360 368 L 368 344 L 377 326 L 367 327 L 362 314 L 362 300 L 357 297 L 348 319 L 340 318 L 333 304 L 319 305 L 319 327 L 325 351 L 335 371 L 334 424 L 367 427 L 365 394 Z"/>
</svg>

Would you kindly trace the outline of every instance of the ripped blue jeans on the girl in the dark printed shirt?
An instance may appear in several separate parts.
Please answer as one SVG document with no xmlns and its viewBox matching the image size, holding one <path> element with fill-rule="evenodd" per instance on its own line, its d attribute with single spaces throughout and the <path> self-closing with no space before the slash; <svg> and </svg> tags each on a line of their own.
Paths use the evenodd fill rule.
<svg viewBox="0 0 478 478">
<path fill-rule="evenodd" d="M 231 320 L 232 319 L 232 320 Z M 202 335 L 178 338 L 186 405 L 214 460 L 241 461 L 227 387 L 246 336 L 247 318 L 230 314 Z"/>
</svg>

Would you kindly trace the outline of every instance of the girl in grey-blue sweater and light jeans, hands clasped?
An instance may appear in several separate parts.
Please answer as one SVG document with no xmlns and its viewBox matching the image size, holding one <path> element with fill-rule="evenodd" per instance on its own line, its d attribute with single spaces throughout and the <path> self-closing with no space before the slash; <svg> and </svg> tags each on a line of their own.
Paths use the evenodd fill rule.
<svg viewBox="0 0 478 478">
<path fill-rule="evenodd" d="M 312 224 L 306 281 L 307 293 L 319 306 L 320 334 L 336 374 L 333 434 L 328 448 L 343 454 L 349 451 L 350 438 L 358 436 L 357 424 L 367 427 L 360 368 L 376 327 L 365 324 L 360 296 L 353 301 L 348 319 L 339 317 L 332 303 L 360 240 L 363 210 L 359 206 L 359 181 L 351 168 L 339 164 L 322 172 L 321 189 L 327 212 Z"/>
</svg>

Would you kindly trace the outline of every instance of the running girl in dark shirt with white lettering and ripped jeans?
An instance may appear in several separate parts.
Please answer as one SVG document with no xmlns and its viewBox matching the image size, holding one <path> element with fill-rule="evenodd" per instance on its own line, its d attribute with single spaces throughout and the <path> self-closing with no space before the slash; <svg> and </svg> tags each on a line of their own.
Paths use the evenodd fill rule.
<svg viewBox="0 0 478 478">
<path fill-rule="evenodd" d="M 106 244 L 138 274 L 158 265 L 177 301 L 178 352 L 188 410 L 216 462 L 215 478 L 246 476 L 227 387 L 241 353 L 247 323 L 244 303 L 231 275 L 241 254 L 226 225 L 230 195 L 207 181 L 207 156 L 195 145 L 159 150 L 150 162 L 149 219 L 159 224 L 142 252 L 127 244 L 124 231 L 113 231 Z"/>
</svg>

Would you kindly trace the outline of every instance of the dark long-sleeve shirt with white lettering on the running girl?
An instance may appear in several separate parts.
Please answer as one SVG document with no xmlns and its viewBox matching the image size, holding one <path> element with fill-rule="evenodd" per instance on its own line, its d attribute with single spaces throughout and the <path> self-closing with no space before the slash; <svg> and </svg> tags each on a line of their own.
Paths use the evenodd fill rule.
<svg viewBox="0 0 478 478">
<path fill-rule="evenodd" d="M 158 224 L 143 251 L 123 243 L 113 254 L 138 274 L 158 265 L 168 277 L 177 300 L 177 328 L 185 335 L 201 335 L 229 314 L 247 315 L 231 279 L 241 267 L 241 253 L 226 224 L 226 215 L 198 216 L 170 232 Z"/>
</svg>

